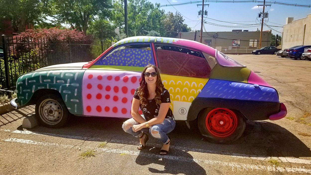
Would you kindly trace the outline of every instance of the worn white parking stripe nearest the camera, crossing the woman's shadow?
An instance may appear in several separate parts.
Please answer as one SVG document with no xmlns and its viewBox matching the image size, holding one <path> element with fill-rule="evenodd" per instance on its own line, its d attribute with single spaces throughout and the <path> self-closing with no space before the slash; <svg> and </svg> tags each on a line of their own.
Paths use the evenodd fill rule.
<svg viewBox="0 0 311 175">
<path fill-rule="evenodd" d="M 24 144 L 34 144 L 34 145 L 39 145 L 39 146 L 58 146 L 62 148 L 75 148 L 78 146 L 73 146 L 73 145 L 64 145 L 64 144 L 55 144 L 55 143 L 49 143 L 49 142 L 37 142 L 33 140 L 25 140 L 25 139 L 17 139 L 17 138 L 8 138 L 8 139 L 2 139 L 7 142 L 17 142 L 17 143 L 24 143 Z M 146 156 L 146 157 L 158 157 L 158 158 L 166 158 L 166 159 L 171 159 L 175 161 L 184 161 L 184 162 L 196 162 L 196 163 L 206 163 L 209 165 L 217 165 L 217 166 L 229 166 L 229 167 L 234 167 L 237 168 L 238 166 L 240 168 L 242 167 L 247 167 L 250 168 L 252 167 L 253 170 L 255 171 L 256 167 L 258 169 L 265 167 L 265 169 L 268 166 L 258 166 L 255 164 L 246 164 L 246 163 L 232 163 L 232 162 L 222 162 L 222 161 L 212 161 L 212 160 L 205 160 L 205 159 L 194 159 L 194 158 L 188 158 L 188 157 L 182 157 L 182 156 L 172 156 L 172 155 L 159 155 L 159 154 L 152 154 L 152 153 L 146 153 L 146 152 L 140 152 L 140 151 L 129 151 L 129 150 L 124 150 L 124 149 L 107 149 L 107 148 L 95 148 L 95 147 L 85 147 L 86 149 L 94 149 L 96 151 L 103 151 L 107 153 L 114 153 L 114 154 L 129 154 L 133 156 Z M 311 169 L 295 169 L 292 170 L 291 168 L 285 169 L 282 167 L 279 168 L 271 168 L 270 171 L 276 171 L 276 172 L 292 172 L 292 173 L 309 173 L 311 174 Z M 260 170 L 259 170 L 260 171 Z"/>
</svg>

